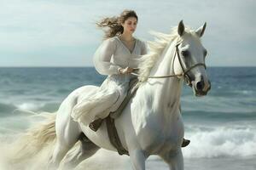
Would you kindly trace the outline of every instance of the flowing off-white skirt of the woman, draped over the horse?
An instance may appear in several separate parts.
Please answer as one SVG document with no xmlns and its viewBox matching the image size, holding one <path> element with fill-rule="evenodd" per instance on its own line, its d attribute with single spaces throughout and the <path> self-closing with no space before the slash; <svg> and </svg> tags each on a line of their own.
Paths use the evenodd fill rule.
<svg viewBox="0 0 256 170">
<path fill-rule="evenodd" d="M 79 99 L 71 116 L 76 122 L 93 122 L 116 111 L 125 99 L 131 75 L 108 76 L 101 87 L 91 90 Z"/>
</svg>

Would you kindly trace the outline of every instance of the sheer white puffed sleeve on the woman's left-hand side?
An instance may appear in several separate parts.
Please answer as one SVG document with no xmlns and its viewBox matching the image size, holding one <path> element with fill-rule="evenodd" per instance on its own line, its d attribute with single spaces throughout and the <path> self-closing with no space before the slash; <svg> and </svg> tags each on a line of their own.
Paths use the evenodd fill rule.
<svg viewBox="0 0 256 170">
<path fill-rule="evenodd" d="M 102 45 L 97 48 L 93 57 L 93 62 L 98 71 L 102 75 L 118 74 L 119 65 L 114 65 L 111 62 L 111 57 L 116 49 L 116 43 L 113 38 L 109 38 L 102 42 Z"/>
</svg>

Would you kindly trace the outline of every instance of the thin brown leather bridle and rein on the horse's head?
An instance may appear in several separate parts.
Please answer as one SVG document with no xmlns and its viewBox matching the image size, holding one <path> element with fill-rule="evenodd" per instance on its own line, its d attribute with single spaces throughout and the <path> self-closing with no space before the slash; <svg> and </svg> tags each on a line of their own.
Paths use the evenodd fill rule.
<svg viewBox="0 0 256 170">
<path fill-rule="evenodd" d="M 178 62 L 179 62 L 180 66 L 181 66 L 181 68 L 182 68 L 182 70 L 183 70 L 183 73 L 182 73 L 182 74 L 171 74 L 171 75 L 157 76 L 157 77 L 152 77 L 152 76 L 146 77 L 146 76 L 143 76 L 143 75 L 139 75 L 139 74 L 137 74 L 137 73 L 134 73 L 134 72 L 131 72 L 131 74 L 134 75 L 134 76 L 137 76 L 137 77 L 146 77 L 146 78 L 184 77 L 185 82 L 186 82 L 189 86 L 191 86 L 192 83 L 191 83 L 191 78 L 189 77 L 189 74 L 188 74 L 189 71 L 191 71 L 193 68 L 195 68 L 196 66 L 199 66 L 199 65 L 202 65 L 202 66 L 205 67 L 205 69 L 207 69 L 207 65 L 205 65 L 204 63 L 197 63 L 197 64 L 192 65 L 191 67 L 189 67 L 189 69 L 185 70 L 185 69 L 184 69 L 184 66 L 183 66 L 182 59 L 181 59 L 181 57 L 180 57 L 180 55 L 179 55 L 179 50 L 178 50 L 178 48 L 177 48 L 179 45 L 180 45 L 180 43 L 177 43 L 177 45 L 176 45 L 176 54 L 177 54 Z M 174 57 L 176 56 L 176 54 L 174 55 Z"/>
</svg>

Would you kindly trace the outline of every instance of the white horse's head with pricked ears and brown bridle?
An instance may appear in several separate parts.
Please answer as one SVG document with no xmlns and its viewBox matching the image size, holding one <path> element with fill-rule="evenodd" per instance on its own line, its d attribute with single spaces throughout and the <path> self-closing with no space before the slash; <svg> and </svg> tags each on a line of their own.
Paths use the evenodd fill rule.
<svg viewBox="0 0 256 170">
<path fill-rule="evenodd" d="M 186 31 L 183 21 L 177 27 L 179 41 L 174 58 L 174 72 L 183 75 L 185 82 L 193 88 L 196 96 L 206 95 L 211 88 L 208 80 L 205 59 L 207 49 L 201 44 L 200 38 L 204 34 L 207 23 L 196 31 Z"/>
</svg>

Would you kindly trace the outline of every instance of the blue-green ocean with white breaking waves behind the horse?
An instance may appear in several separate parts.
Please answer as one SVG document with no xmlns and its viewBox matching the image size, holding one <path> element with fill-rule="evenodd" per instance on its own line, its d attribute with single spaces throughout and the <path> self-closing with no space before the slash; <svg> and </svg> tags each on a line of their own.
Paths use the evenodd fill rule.
<svg viewBox="0 0 256 170">
<path fill-rule="evenodd" d="M 212 82 L 207 96 L 195 97 L 191 88 L 183 87 L 185 139 L 191 140 L 183 148 L 184 167 L 255 170 L 256 67 L 210 67 L 207 73 Z M 12 142 L 32 126 L 32 119 L 20 110 L 54 112 L 75 88 L 100 85 L 104 78 L 92 67 L 0 68 L 0 144 Z M 109 156 L 119 161 L 113 163 Z M 98 167 L 93 167 L 94 161 Z M 128 156 L 107 150 L 77 169 L 90 165 L 91 169 L 131 169 Z M 150 156 L 147 169 L 156 168 L 168 169 L 160 158 Z"/>
</svg>

